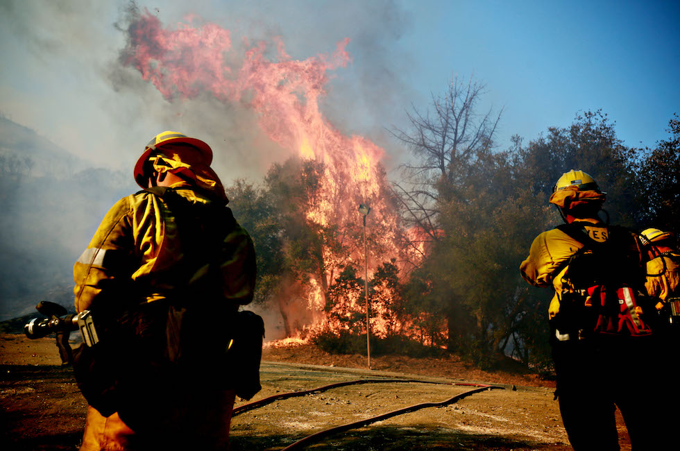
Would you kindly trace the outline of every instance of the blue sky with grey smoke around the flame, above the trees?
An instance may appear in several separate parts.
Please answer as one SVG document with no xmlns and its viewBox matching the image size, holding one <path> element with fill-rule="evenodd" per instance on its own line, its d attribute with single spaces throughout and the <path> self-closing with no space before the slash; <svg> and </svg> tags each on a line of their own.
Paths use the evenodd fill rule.
<svg viewBox="0 0 680 451">
<path fill-rule="evenodd" d="M 209 143 L 226 141 L 224 130 L 250 130 L 252 118 L 237 106 L 168 103 L 138 74 L 117 67 L 125 40 L 114 23 L 127 4 L 0 1 L 0 112 L 97 166 L 125 171 L 162 130 Z M 386 148 L 388 167 L 405 153 L 387 130 L 406 128 L 405 110 L 425 111 L 430 94 L 442 93 L 453 76 L 486 83 L 480 109 L 504 109 L 501 147 L 511 135 L 528 142 L 550 126 L 568 126 L 579 111 L 599 108 L 625 144 L 652 146 L 667 137 L 668 120 L 680 110 L 678 1 L 137 4 L 168 26 L 194 12 L 235 38 L 279 35 L 299 59 L 330 53 L 348 37 L 352 62 L 332 74 L 323 110 L 344 133 Z M 196 119 L 211 108 L 213 119 Z M 221 124 L 222 114 L 229 126 Z M 261 162 L 248 155 L 257 143 L 266 149 L 257 155 Z M 216 159 L 227 180 L 256 178 L 278 158 L 262 139 L 234 136 L 228 144 Z"/>
</svg>

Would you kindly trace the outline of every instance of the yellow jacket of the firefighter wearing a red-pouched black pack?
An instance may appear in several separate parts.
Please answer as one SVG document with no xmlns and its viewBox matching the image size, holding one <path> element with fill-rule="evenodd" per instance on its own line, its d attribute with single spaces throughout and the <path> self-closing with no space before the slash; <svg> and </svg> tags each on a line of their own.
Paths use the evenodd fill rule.
<svg viewBox="0 0 680 451">
<path fill-rule="evenodd" d="M 604 242 L 609 238 L 606 225 L 596 219 L 577 219 L 573 223 L 584 227 L 591 239 Z M 529 257 L 520 264 L 522 278 L 534 287 L 554 287 L 555 293 L 550 301 L 548 314 L 554 318 L 559 312 L 562 279 L 568 270 L 565 262 L 584 244 L 570 237 L 562 230 L 554 228 L 538 235 L 529 249 Z"/>
</svg>

